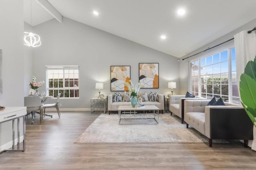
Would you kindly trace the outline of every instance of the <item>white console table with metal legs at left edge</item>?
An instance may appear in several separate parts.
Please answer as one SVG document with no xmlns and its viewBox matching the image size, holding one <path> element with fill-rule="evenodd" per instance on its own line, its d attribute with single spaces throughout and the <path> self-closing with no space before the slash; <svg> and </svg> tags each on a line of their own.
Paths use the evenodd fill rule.
<svg viewBox="0 0 256 170">
<path fill-rule="evenodd" d="M 26 134 L 26 128 L 25 128 L 25 116 L 27 114 L 26 107 L 6 107 L 4 110 L 0 111 L 0 124 L 8 121 L 12 121 L 12 150 L 3 150 L 0 151 L 6 152 L 6 151 L 22 151 L 24 152 L 26 150 L 26 144 L 25 144 L 25 134 Z M 20 118 L 23 117 L 23 147 L 20 148 Z M 15 149 L 15 128 L 14 128 L 14 121 L 17 119 L 17 149 Z"/>
</svg>

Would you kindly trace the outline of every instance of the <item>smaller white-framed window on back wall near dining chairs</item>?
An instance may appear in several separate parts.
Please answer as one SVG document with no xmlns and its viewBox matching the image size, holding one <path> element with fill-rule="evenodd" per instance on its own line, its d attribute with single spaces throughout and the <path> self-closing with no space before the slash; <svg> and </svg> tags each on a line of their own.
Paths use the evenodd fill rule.
<svg viewBox="0 0 256 170">
<path fill-rule="evenodd" d="M 79 97 L 79 67 L 71 66 L 46 66 L 47 95 L 62 98 Z"/>
</svg>

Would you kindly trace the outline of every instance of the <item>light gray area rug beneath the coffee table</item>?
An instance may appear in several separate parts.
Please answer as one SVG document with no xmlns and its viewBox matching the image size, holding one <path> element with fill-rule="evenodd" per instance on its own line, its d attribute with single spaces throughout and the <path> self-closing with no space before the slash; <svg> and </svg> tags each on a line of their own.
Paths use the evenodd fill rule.
<svg viewBox="0 0 256 170">
<path fill-rule="evenodd" d="M 178 117 L 167 113 L 159 115 L 158 125 L 118 125 L 118 122 L 117 114 L 101 114 L 74 143 L 208 142 L 200 132 L 186 128 Z"/>
</svg>

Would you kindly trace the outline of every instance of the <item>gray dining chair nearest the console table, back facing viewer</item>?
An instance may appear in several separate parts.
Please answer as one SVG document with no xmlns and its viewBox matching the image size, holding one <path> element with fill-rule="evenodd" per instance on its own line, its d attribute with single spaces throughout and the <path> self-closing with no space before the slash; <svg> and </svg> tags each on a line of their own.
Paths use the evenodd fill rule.
<svg viewBox="0 0 256 170">
<path fill-rule="evenodd" d="M 34 124 L 35 113 L 40 115 L 40 125 L 42 121 L 42 104 L 39 96 L 27 96 L 24 97 L 24 106 L 27 107 L 27 115 L 32 115 L 32 123 Z"/>
</svg>

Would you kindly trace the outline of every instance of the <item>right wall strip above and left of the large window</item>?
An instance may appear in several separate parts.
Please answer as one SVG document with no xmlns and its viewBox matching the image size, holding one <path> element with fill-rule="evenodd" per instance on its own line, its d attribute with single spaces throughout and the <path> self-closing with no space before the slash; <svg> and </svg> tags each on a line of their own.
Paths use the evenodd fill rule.
<svg viewBox="0 0 256 170">
<path fill-rule="evenodd" d="M 252 30 L 252 28 L 254 28 L 256 26 L 256 19 L 252 20 L 251 22 L 248 22 L 247 24 L 237 28 L 236 30 L 192 51 L 191 53 L 188 53 L 187 55 L 184 55 L 181 59 L 180 59 L 180 94 L 186 94 L 186 92 L 188 91 L 188 87 L 189 87 L 189 61 L 192 59 L 195 59 L 198 57 L 198 55 L 195 55 L 193 57 L 190 57 L 189 59 L 185 59 L 182 60 L 190 55 L 194 55 L 200 51 L 204 51 L 205 49 L 207 49 L 208 47 L 213 47 L 219 43 L 225 42 L 227 40 L 230 40 L 231 38 L 234 38 L 234 35 L 238 32 L 241 32 L 243 30 Z M 213 49 L 214 50 L 214 49 Z M 201 53 L 203 54 L 203 53 Z"/>
</svg>

